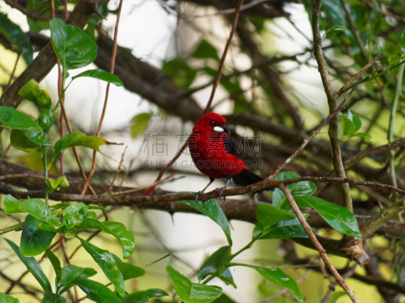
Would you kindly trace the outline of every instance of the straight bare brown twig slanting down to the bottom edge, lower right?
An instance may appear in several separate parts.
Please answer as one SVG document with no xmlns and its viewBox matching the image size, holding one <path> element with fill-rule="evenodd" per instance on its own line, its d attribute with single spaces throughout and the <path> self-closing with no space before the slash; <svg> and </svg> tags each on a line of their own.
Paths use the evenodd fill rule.
<svg viewBox="0 0 405 303">
<path fill-rule="evenodd" d="M 319 251 L 319 254 L 320 254 L 320 257 L 323 260 L 323 263 L 325 263 L 326 267 L 333 274 L 333 276 L 335 277 L 335 279 L 339 283 L 339 285 L 346 291 L 346 293 L 350 297 L 350 299 L 354 303 L 358 303 L 358 300 L 357 300 L 356 296 L 354 295 L 353 291 L 347 285 L 347 283 L 342 278 L 342 276 L 338 273 L 336 268 L 332 265 L 331 261 L 328 258 L 328 255 L 326 254 L 325 248 L 323 248 L 322 245 L 320 245 L 318 239 L 315 237 L 314 233 L 312 232 L 311 227 L 308 225 L 307 221 L 305 220 L 304 215 L 301 213 L 300 209 L 298 208 L 298 206 L 297 206 L 297 204 L 296 204 L 296 202 L 294 200 L 294 197 L 291 194 L 290 190 L 284 184 L 281 184 L 280 189 L 286 195 L 287 200 L 289 201 L 289 203 L 291 205 L 291 208 L 293 209 L 294 213 L 297 215 L 297 218 L 300 221 L 302 227 L 305 229 L 305 232 L 308 234 L 309 239 L 315 245 L 316 249 Z"/>
</svg>

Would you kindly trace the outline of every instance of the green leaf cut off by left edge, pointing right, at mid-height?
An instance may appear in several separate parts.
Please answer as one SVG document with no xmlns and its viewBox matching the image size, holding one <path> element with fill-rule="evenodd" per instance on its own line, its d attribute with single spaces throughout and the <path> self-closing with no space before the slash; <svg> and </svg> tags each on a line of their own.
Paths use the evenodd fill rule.
<svg viewBox="0 0 405 303">
<path fill-rule="evenodd" d="M 0 106 L 0 126 L 42 132 L 41 126 L 31 118 L 8 106 Z"/>
</svg>

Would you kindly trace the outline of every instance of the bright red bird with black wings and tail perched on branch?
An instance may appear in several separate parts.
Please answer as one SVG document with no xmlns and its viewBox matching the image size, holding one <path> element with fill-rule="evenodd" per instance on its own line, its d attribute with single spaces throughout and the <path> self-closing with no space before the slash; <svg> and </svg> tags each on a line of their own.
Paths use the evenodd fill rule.
<svg viewBox="0 0 405 303">
<path fill-rule="evenodd" d="M 218 114 L 205 114 L 195 122 L 188 147 L 195 166 L 201 173 L 210 177 L 210 183 L 200 192 L 204 192 L 217 178 L 226 178 L 225 187 L 221 188 L 220 194 L 230 178 L 240 186 L 263 180 L 245 166 L 230 139 L 225 118 Z"/>
</svg>

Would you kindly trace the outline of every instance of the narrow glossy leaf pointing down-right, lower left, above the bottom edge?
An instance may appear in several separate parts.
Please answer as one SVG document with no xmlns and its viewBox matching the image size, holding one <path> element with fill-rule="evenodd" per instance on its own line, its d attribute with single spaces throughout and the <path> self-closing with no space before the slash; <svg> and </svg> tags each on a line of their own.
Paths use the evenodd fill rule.
<svg viewBox="0 0 405 303">
<path fill-rule="evenodd" d="M 105 249 L 101 249 L 96 245 L 89 243 L 86 240 L 83 240 L 77 237 L 80 242 L 82 243 L 83 247 L 92 256 L 93 260 L 100 266 L 103 270 L 105 276 L 111 283 L 114 285 L 115 290 L 118 292 L 120 296 L 125 295 L 125 285 L 124 285 L 124 278 L 121 272 L 118 269 L 118 265 L 114 260 L 111 252 Z M 86 291 L 85 291 L 86 292 Z"/>
</svg>

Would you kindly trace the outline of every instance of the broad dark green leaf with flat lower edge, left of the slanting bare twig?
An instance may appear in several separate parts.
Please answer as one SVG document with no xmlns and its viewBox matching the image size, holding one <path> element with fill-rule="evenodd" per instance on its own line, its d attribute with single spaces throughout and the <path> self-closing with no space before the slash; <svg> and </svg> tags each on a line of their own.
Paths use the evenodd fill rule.
<svg viewBox="0 0 405 303">
<path fill-rule="evenodd" d="M 252 238 L 258 239 L 289 239 L 308 238 L 298 218 L 287 221 L 280 221 L 277 224 L 264 228 L 261 223 L 256 224 L 253 229 Z"/>
</svg>

